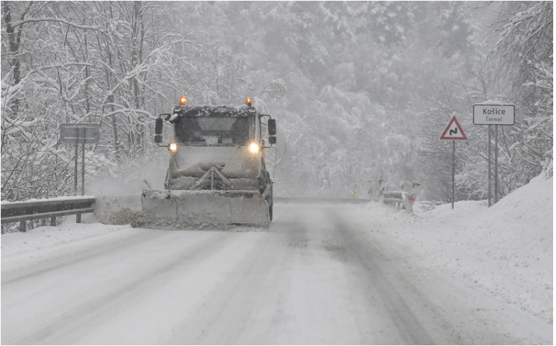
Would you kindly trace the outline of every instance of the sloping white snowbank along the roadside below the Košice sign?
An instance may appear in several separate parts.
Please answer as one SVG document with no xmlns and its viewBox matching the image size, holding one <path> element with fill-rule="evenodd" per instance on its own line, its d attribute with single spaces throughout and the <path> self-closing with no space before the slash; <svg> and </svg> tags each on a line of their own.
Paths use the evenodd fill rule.
<svg viewBox="0 0 556 346">
<path fill-rule="evenodd" d="M 553 181 L 540 175 L 491 207 L 462 201 L 453 210 L 416 207 L 414 215 L 384 207 L 382 220 L 368 222 L 388 229 L 396 219 L 398 230 L 385 237 L 415 252 L 416 266 L 464 279 L 552 324 Z"/>
</svg>

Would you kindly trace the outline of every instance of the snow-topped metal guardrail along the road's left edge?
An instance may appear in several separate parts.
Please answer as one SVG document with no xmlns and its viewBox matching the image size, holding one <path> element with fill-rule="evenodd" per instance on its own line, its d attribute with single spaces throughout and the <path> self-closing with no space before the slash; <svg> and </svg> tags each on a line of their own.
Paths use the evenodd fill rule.
<svg viewBox="0 0 556 346">
<path fill-rule="evenodd" d="M 94 197 L 54 198 L 26 202 L 2 202 L 1 222 L 19 222 L 19 231 L 26 232 L 28 220 L 48 219 L 54 226 L 56 217 L 77 215 L 76 222 L 81 222 L 81 214 L 94 212 Z"/>
</svg>

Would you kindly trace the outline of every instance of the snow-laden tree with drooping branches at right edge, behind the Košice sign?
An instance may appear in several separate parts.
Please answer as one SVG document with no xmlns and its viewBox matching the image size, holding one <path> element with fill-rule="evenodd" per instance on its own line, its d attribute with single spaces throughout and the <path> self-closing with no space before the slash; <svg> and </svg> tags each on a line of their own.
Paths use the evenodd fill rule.
<svg viewBox="0 0 556 346">
<path fill-rule="evenodd" d="M 492 31 L 494 64 L 518 109 L 511 146 L 520 165 L 533 168 L 525 181 L 554 159 L 553 13 L 552 1 L 504 3 Z"/>
</svg>

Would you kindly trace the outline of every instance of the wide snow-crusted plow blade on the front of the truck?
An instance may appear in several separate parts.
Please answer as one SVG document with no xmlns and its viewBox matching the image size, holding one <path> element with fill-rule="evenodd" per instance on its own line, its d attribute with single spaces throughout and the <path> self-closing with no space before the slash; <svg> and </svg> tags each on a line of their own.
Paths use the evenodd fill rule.
<svg viewBox="0 0 556 346">
<path fill-rule="evenodd" d="M 258 191 L 144 190 L 143 213 L 166 225 L 268 227 L 268 203 Z"/>
</svg>

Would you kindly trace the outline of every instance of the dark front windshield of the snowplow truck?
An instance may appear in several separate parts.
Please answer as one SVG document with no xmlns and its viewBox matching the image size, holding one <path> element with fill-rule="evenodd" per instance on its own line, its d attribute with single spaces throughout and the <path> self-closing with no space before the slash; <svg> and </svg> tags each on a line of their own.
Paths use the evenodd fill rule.
<svg viewBox="0 0 556 346">
<path fill-rule="evenodd" d="M 191 117 L 175 121 L 180 144 L 246 145 L 250 137 L 247 117 Z"/>
</svg>

